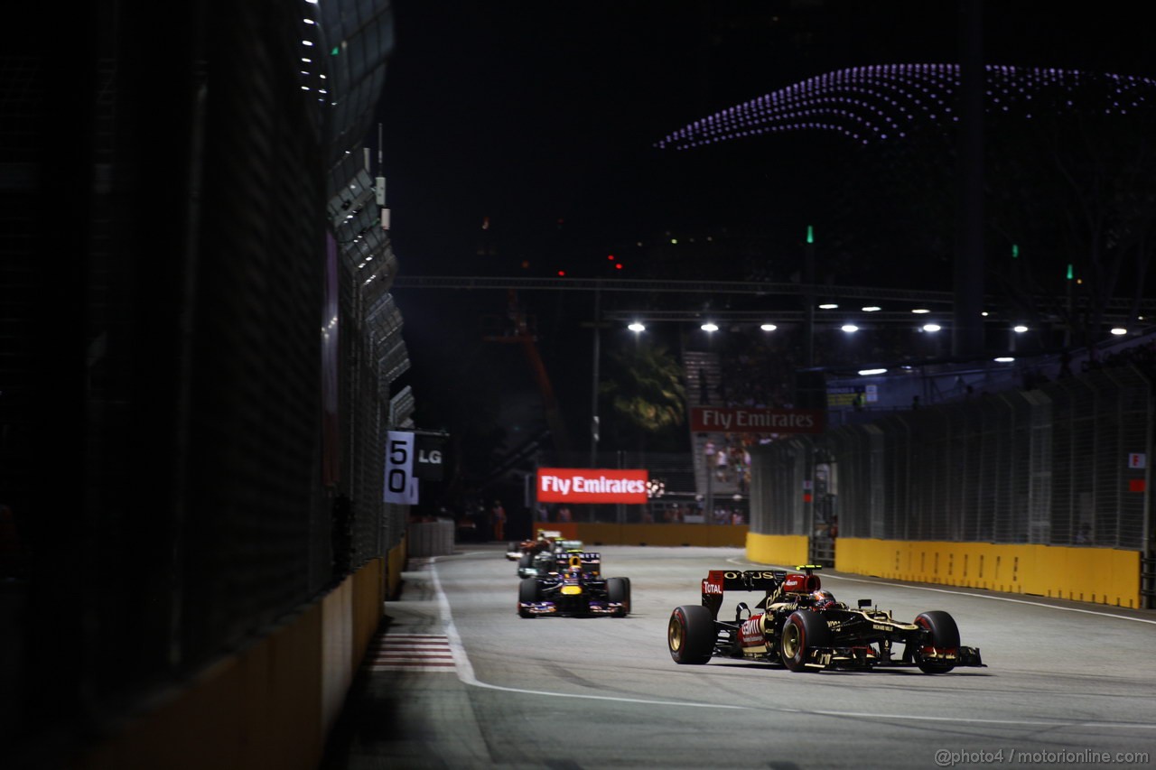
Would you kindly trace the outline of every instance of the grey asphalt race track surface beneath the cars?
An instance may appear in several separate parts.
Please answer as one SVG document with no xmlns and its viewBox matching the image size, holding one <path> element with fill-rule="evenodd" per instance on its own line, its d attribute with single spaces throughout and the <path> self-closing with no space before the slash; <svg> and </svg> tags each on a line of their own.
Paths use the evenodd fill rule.
<svg viewBox="0 0 1156 770">
<path fill-rule="evenodd" d="M 603 575 L 631 579 L 628 617 L 518 617 L 503 546 L 410 560 L 326 770 L 1156 767 L 1156 613 L 827 571 L 852 606 L 947 610 L 986 667 L 680 666 L 674 607 L 699 604 L 710 569 L 766 565 L 733 548 L 599 550 Z M 728 593 L 720 616 L 751 597 Z"/>
</svg>

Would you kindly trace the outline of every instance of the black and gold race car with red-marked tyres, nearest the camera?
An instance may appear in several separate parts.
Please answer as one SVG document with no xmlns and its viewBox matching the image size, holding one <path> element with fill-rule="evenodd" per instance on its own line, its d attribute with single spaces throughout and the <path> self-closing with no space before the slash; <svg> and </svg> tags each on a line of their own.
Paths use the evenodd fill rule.
<svg viewBox="0 0 1156 770">
<path fill-rule="evenodd" d="M 703 580 L 699 606 L 676 607 L 667 627 L 667 645 L 677 664 L 736 658 L 781 664 L 791 671 L 869 669 L 918 666 L 943 674 L 956 666 L 984 666 L 978 647 L 959 644 L 955 620 L 942 610 L 920 613 L 911 623 L 860 599 L 857 608 L 823 591 L 807 564 L 786 570 L 711 570 Z M 754 609 L 740 601 L 734 620 L 719 620 L 727 591 L 762 591 Z M 894 645 L 903 650 L 895 657 Z"/>
</svg>

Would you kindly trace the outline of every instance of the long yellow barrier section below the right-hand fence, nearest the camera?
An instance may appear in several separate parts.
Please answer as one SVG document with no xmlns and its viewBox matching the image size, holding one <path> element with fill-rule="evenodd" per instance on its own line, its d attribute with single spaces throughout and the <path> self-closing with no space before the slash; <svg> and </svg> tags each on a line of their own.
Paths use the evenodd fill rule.
<svg viewBox="0 0 1156 770">
<path fill-rule="evenodd" d="M 750 555 L 750 545 L 747 550 L 753 561 L 764 561 Z M 835 569 L 894 580 L 1141 606 L 1140 551 L 1135 550 L 839 538 Z"/>
</svg>

